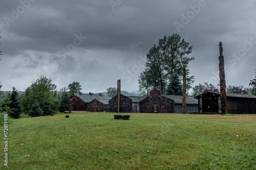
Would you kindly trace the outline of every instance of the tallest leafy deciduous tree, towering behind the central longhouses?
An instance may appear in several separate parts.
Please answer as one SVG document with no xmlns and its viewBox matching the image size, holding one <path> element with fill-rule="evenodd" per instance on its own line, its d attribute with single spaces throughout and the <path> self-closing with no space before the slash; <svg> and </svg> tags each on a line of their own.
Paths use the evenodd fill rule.
<svg viewBox="0 0 256 170">
<path fill-rule="evenodd" d="M 164 36 L 159 39 L 158 44 L 146 54 L 145 70 L 139 76 L 139 91 L 141 94 L 148 94 L 148 90 L 158 88 L 166 93 L 170 78 L 177 74 L 183 76 L 183 65 L 188 65 L 194 58 L 187 57 L 192 51 L 192 46 L 178 34 Z M 191 88 L 195 77 L 189 76 L 187 72 L 187 89 Z"/>
</svg>

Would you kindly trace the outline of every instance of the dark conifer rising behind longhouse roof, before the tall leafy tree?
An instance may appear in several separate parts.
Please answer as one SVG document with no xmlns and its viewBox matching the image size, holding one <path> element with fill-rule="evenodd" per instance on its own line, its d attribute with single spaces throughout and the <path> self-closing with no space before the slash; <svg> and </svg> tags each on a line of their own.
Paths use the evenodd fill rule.
<svg viewBox="0 0 256 170">
<path fill-rule="evenodd" d="M 171 78 L 170 78 L 170 83 L 167 87 L 167 92 L 166 94 L 170 94 L 170 95 L 182 95 L 182 84 L 180 82 L 180 79 L 178 77 L 177 74 L 174 74 Z"/>
</svg>

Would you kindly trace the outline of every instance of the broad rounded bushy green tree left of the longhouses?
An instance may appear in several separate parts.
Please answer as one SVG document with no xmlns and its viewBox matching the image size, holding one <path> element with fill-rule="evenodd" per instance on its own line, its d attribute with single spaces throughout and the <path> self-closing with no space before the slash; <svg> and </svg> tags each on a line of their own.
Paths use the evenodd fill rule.
<svg viewBox="0 0 256 170">
<path fill-rule="evenodd" d="M 36 102 L 44 112 L 41 115 L 50 115 L 59 107 L 56 85 L 45 76 L 40 76 L 25 90 L 25 94 L 22 97 L 23 111 L 30 112 L 32 105 Z"/>
</svg>

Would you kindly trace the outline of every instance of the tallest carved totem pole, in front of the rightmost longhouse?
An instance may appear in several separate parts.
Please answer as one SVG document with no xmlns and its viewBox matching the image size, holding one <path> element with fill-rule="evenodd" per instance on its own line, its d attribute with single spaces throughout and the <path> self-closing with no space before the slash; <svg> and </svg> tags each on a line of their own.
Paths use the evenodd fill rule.
<svg viewBox="0 0 256 170">
<path fill-rule="evenodd" d="M 227 113 L 226 80 L 224 69 L 223 48 L 220 42 L 219 70 L 220 70 L 220 92 L 221 92 L 221 114 Z"/>
</svg>

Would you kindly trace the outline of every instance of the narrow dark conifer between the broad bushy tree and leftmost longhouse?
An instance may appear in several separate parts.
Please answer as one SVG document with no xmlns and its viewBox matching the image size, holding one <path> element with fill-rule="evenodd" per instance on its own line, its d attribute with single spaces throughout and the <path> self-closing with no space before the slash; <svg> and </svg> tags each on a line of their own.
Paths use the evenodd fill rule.
<svg viewBox="0 0 256 170">
<path fill-rule="evenodd" d="M 59 105 L 59 112 L 71 111 L 73 108 L 70 102 L 70 95 L 67 91 L 67 88 L 64 87 L 60 89 L 60 105 Z"/>
</svg>

